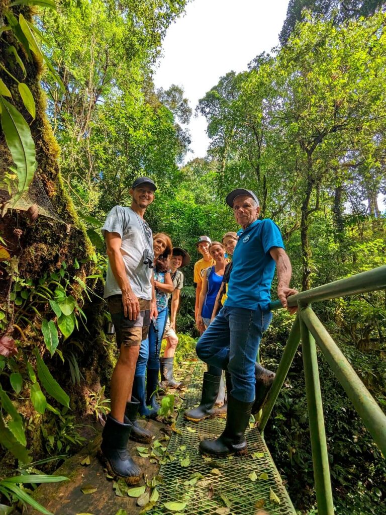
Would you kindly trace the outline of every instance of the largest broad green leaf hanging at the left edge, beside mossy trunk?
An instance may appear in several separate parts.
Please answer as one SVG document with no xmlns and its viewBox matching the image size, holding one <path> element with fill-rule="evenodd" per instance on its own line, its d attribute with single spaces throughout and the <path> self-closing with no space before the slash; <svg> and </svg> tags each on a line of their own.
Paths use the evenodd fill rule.
<svg viewBox="0 0 386 515">
<path fill-rule="evenodd" d="M 0 97 L 2 128 L 17 173 L 16 202 L 27 190 L 37 168 L 35 144 L 29 126 L 21 113 L 5 98 Z"/>
</svg>

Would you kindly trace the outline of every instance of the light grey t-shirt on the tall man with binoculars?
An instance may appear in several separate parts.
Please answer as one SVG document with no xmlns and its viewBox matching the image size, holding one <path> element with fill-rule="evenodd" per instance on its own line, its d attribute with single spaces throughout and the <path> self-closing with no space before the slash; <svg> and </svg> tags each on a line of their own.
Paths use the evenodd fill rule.
<svg viewBox="0 0 386 515">
<path fill-rule="evenodd" d="M 151 262 L 153 261 L 153 237 L 147 222 L 131 208 L 116 205 L 104 222 L 103 236 L 105 231 L 116 232 L 122 238 L 120 252 L 134 295 L 138 299 L 151 300 L 150 280 L 153 269 L 144 264 L 144 255 L 147 252 Z M 121 293 L 109 263 L 103 297 L 106 299 Z"/>
</svg>

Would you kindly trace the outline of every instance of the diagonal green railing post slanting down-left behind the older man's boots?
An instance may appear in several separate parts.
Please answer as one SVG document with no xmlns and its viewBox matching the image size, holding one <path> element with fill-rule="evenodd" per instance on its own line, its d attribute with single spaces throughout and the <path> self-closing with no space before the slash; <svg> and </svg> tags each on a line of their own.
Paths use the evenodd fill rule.
<svg viewBox="0 0 386 515">
<path fill-rule="evenodd" d="M 279 366 L 277 367 L 276 377 L 273 381 L 269 397 L 264 409 L 262 410 L 261 420 L 259 422 L 259 431 L 262 433 L 265 426 L 267 425 L 268 419 L 271 415 L 273 406 L 275 405 L 276 399 L 282 389 L 283 383 L 286 380 L 288 370 L 292 364 L 296 350 L 299 347 L 300 342 L 300 328 L 299 328 L 299 315 L 296 316 L 293 322 L 291 332 L 289 334 L 286 347 L 283 352 L 282 359 L 280 359 Z"/>
</svg>

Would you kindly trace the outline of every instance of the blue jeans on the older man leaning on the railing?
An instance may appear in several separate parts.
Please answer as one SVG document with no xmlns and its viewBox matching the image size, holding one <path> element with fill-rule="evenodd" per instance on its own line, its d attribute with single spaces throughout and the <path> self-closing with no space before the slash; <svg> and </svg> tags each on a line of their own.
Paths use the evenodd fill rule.
<svg viewBox="0 0 386 515">
<path fill-rule="evenodd" d="M 262 333 L 272 320 L 269 310 L 225 305 L 197 343 L 196 352 L 208 365 L 228 370 L 232 397 L 255 400 L 255 362 Z"/>
</svg>

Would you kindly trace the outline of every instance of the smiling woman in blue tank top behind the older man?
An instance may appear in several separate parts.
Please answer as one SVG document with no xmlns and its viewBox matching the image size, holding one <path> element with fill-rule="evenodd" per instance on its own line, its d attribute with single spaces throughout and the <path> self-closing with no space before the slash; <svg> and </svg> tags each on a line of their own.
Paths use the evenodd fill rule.
<svg viewBox="0 0 386 515">
<path fill-rule="evenodd" d="M 216 264 L 204 270 L 197 317 L 197 327 L 200 331 L 204 331 L 210 323 L 216 297 L 224 276 L 224 270 L 228 264 L 225 259 L 225 248 L 222 243 L 212 242 L 209 245 L 209 253 L 216 261 Z"/>
</svg>

